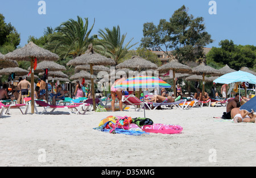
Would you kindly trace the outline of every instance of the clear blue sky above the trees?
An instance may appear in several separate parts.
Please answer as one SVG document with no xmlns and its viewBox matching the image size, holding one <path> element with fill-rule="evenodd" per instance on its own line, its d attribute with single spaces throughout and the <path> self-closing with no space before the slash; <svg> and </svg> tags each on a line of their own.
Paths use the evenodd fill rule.
<svg viewBox="0 0 256 178">
<path fill-rule="evenodd" d="M 28 36 L 43 36 L 44 28 L 59 26 L 77 15 L 89 18 L 89 27 L 95 25 L 92 34 L 105 27 L 119 25 L 126 41 L 134 38 L 140 43 L 143 37 L 143 23 L 158 24 L 160 19 L 169 19 L 175 10 L 185 5 L 189 14 L 203 16 L 206 31 L 212 35 L 213 43 L 207 47 L 218 47 L 220 40 L 232 39 L 235 44 L 256 45 L 256 1 L 216 0 L 217 14 L 210 15 L 210 0 L 45 0 L 46 15 L 39 15 L 39 0 L 0 0 L 0 13 L 20 33 L 23 46 Z M 139 45 L 139 44 L 138 44 Z M 136 45 L 134 48 L 138 47 Z"/>
</svg>

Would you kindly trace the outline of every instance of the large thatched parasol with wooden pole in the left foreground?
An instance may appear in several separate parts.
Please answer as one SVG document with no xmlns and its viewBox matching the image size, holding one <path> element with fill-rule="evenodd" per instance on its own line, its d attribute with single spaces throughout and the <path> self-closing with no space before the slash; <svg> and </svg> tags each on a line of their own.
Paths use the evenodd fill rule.
<svg viewBox="0 0 256 178">
<path fill-rule="evenodd" d="M 55 53 L 48 51 L 47 49 L 43 49 L 33 42 L 29 42 L 24 47 L 16 49 L 13 52 L 7 53 L 5 55 L 5 59 L 11 60 L 22 60 L 22 61 L 30 61 L 31 67 L 31 93 L 34 93 L 34 63 L 35 59 L 39 61 L 56 61 L 59 59 L 59 56 Z M 34 94 L 31 94 L 31 113 L 34 114 Z"/>
</svg>

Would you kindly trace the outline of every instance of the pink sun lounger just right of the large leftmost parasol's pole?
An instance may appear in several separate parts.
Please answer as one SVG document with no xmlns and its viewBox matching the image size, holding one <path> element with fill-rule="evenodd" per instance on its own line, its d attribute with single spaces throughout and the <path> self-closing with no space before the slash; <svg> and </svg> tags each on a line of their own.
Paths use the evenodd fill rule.
<svg viewBox="0 0 256 178">
<path fill-rule="evenodd" d="M 63 109 L 63 108 L 65 110 L 67 110 L 69 114 L 72 114 L 72 111 L 70 109 L 75 109 L 76 110 L 76 112 L 75 112 L 76 114 L 85 114 L 86 111 L 87 111 L 87 110 L 85 110 L 84 113 L 80 112 L 80 110 L 82 109 L 82 106 L 84 106 L 85 104 L 82 104 L 82 105 L 59 106 L 59 105 L 49 105 L 46 102 L 38 101 L 38 100 L 35 100 L 35 103 L 38 104 L 39 106 L 43 106 L 44 107 L 44 110 L 40 114 L 46 113 L 47 109 L 52 109 L 49 112 L 50 114 L 52 114 L 55 109 Z M 36 110 L 36 114 L 39 114 L 38 109 L 37 109 L 36 106 L 35 106 L 35 110 Z"/>
</svg>

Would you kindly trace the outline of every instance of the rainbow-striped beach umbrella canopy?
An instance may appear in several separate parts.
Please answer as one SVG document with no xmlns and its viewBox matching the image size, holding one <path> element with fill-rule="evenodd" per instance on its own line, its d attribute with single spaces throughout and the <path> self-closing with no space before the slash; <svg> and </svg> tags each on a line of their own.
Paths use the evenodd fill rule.
<svg viewBox="0 0 256 178">
<path fill-rule="evenodd" d="M 171 88 L 171 85 L 167 82 L 161 80 L 158 77 L 152 76 L 137 76 L 127 78 L 125 81 L 122 81 L 120 84 L 115 85 L 115 88 Z"/>
</svg>

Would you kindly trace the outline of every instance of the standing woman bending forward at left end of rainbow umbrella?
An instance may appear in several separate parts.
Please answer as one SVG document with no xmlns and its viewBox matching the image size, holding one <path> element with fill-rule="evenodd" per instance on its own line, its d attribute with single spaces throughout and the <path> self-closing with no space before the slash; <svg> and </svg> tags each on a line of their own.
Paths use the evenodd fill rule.
<svg viewBox="0 0 256 178">
<path fill-rule="evenodd" d="M 115 80 L 114 84 L 110 88 L 111 97 L 112 97 L 111 106 L 112 106 L 113 112 L 115 111 L 115 96 L 117 96 L 117 98 L 119 100 L 120 111 L 123 111 L 122 89 L 115 88 L 115 85 L 118 85 L 122 81 L 126 80 L 126 77 L 122 77 L 122 76 L 120 76 L 120 77 L 121 78 L 119 78 L 118 80 Z"/>
</svg>

